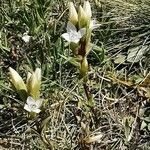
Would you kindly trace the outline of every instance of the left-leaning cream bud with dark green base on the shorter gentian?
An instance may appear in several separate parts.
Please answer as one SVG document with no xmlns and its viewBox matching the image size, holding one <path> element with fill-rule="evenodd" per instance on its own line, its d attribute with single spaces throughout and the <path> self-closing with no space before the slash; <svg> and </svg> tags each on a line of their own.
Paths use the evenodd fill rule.
<svg viewBox="0 0 150 150">
<path fill-rule="evenodd" d="M 18 92 L 22 100 L 27 97 L 27 87 L 21 76 L 11 67 L 9 67 L 9 78 L 15 90 Z"/>
</svg>

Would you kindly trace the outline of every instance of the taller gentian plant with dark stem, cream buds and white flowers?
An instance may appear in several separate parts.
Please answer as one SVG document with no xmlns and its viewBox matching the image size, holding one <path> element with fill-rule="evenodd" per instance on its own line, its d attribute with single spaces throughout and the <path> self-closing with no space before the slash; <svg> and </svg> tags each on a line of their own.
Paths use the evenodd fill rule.
<svg viewBox="0 0 150 150">
<path fill-rule="evenodd" d="M 74 57 L 77 58 L 75 60 L 77 60 L 79 64 L 80 77 L 83 78 L 83 85 L 88 100 L 91 96 L 86 85 L 89 68 L 87 55 L 92 49 L 92 30 L 100 26 L 100 24 L 96 24 L 96 21 L 91 17 L 92 11 L 89 1 L 85 1 L 83 7 L 81 5 L 79 6 L 78 13 L 74 4 L 70 2 L 67 33 L 62 34 L 62 37 L 69 42 Z"/>
</svg>

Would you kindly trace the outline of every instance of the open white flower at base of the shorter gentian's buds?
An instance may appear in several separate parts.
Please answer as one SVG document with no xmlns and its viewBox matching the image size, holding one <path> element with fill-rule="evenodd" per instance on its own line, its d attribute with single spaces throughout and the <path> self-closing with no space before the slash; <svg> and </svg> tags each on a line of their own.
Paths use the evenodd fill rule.
<svg viewBox="0 0 150 150">
<path fill-rule="evenodd" d="M 24 105 L 24 109 L 28 112 L 39 113 L 41 110 L 39 109 L 43 103 L 42 99 L 35 100 L 31 96 L 27 98 L 27 102 Z"/>
</svg>

